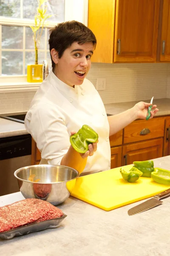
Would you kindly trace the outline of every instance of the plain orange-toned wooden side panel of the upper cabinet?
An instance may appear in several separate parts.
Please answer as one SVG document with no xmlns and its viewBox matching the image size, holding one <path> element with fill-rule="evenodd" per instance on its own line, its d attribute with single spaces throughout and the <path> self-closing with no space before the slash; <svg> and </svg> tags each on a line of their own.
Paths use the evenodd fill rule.
<svg viewBox="0 0 170 256">
<path fill-rule="evenodd" d="M 113 63 L 114 15 L 115 0 L 88 1 L 88 27 L 97 39 L 93 62 Z"/>
</svg>

